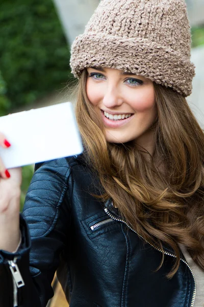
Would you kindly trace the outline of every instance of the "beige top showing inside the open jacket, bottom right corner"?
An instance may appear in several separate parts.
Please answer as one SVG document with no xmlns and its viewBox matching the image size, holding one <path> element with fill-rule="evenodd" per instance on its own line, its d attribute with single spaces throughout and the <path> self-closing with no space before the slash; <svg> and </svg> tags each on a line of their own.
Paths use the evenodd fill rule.
<svg viewBox="0 0 204 307">
<path fill-rule="evenodd" d="M 201 270 L 193 261 L 189 253 L 184 246 L 180 246 L 181 250 L 188 262 L 196 281 L 196 296 L 193 307 L 204 307 L 204 271 Z"/>
</svg>

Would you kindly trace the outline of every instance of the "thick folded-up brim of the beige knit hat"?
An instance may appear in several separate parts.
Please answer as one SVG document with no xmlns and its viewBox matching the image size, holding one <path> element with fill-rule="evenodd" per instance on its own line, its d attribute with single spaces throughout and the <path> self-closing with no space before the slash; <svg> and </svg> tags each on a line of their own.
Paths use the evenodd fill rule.
<svg viewBox="0 0 204 307">
<path fill-rule="evenodd" d="M 195 66 L 173 49 L 143 38 L 125 38 L 104 33 L 78 36 L 71 47 L 70 66 L 80 78 L 84 68 L 107 67 L 142 75 L 189 96 Z"/>
</svg>

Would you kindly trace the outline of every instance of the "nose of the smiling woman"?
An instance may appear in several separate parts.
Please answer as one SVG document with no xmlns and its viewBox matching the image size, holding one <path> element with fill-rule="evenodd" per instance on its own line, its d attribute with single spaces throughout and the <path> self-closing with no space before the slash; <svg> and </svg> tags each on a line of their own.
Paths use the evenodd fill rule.
<svg viewBox="0 0 204 307">
<path fill-rule="evenodd" d="M 114 108 L 115 106 L 121 105 L 123 102 L 120 93 L 116 86 L 108 86 L 103 103 L 107 108 Z"/>
</svg>

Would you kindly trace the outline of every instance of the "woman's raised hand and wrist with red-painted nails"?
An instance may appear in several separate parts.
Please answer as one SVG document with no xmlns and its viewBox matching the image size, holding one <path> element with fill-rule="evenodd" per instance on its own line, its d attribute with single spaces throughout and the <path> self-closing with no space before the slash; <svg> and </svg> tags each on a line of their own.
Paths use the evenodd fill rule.
<svg viewBox="0 0 204 307">
<path fill-rule="evenodd" d="M 0 146 L 12 146 L 1 133 Z M 21 168 L 7 170 L 0 157 L 0 250 L 13 252 L 19 243 L 20 185 Z"/>
</svg>

